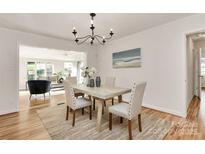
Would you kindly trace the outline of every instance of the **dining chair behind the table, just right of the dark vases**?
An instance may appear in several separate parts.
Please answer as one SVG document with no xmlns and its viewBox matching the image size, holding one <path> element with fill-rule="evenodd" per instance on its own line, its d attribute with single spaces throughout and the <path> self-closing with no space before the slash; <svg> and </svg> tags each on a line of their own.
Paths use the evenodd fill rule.
<svg viewBox="0 0 205 154">
<path fill-rule="evenodd" d="M 115 87 L 115 77 L 106 77 L 105 78 L 105 84 L 103 85 L 104 87 Z M 112 105 L 114 104 L 114 98 L 112 99 Z M 96 98 L 93 98 L 93 110 L 95 110 L 95 100 Z M 106 101 L 104 100 L 104 106 L 106 106 Z M 104 110 L 103 110 L 104 111 Z"/>
</svg>

